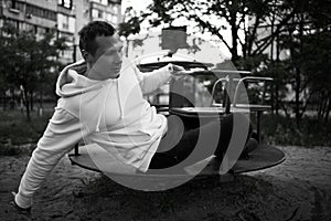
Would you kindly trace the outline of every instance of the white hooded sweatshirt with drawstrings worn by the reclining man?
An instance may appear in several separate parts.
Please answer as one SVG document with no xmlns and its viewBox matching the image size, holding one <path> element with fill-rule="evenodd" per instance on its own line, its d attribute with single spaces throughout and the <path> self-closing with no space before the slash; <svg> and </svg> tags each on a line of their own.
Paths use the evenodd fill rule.
<svg viewBox="0 0 331 221">
<path fill-rule="evenodd" d="M 89 71 L 90 78 L 107 73 L 110 65 L 105 53 Z M 75 144 L 84 139 L 141 171 L 146 171 L 161 137 L 167 131 L 167 118 L 157 114 L 143 98 L 171 78 L 171 65 L 151 73 L 124 61 L 117 78 L 90 80 L 79 74 L 84 61 L 65 67 L 57 80 L 61 96 L 43 137 L 21 179 L 15 202 L 28 208 L 32 196 L 46 175 Z"/>
</svg>

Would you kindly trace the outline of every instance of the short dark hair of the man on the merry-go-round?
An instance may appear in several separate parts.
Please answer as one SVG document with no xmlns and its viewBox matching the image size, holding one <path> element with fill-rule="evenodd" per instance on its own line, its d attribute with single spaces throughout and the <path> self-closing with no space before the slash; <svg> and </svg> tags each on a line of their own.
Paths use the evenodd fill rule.
<svg viewBox="0 0 331 221">
<path fill-rule="evenodd" d="M 96 36 L 111 36 L 115 33 L 115 29 L 111 24 L 105 21 L 92 21 L 78 32 L 79 34 L 79 49 L 87 51 L 92 55 L 98 48 L 95 42 Z"/>
</svg>

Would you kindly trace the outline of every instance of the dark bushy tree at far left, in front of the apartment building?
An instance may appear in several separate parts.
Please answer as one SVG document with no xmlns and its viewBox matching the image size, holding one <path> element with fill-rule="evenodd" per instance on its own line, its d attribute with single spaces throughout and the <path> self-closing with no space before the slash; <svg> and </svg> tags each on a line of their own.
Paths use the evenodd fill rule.
<svg viewBox="0 0 331 221">
<path fill-rule="evenodd" d="M 30 120 L 33 93 L 41 82 L 45 82 L 51 69 L 58 65 L 55 57 L 66 48 L 64 39 L 54 39 L 53 33 L 46 33 L 38 41 L 34 33 L 6 24 L 1 29 L 0 42 L 1 77 L 22 91 Z"/>
</svg>

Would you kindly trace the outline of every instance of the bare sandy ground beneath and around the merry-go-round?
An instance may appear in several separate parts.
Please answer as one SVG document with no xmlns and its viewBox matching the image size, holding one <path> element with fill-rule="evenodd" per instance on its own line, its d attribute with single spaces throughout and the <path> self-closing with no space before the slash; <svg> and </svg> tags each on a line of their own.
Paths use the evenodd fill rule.
<svg viewBox="0 0 331 221">
<path fill-rule="evenodd" d="M 331 220 L 331 148 L 279 147 L 281 165 L 234 181 L 194 180 L 163 192 L 142 192 L 71 166 L 56 166 L 34 198 L 30 217 L 19 214 L 10 192 L 29 156 L 0 157 L 0 220 Z"/>
</svg>

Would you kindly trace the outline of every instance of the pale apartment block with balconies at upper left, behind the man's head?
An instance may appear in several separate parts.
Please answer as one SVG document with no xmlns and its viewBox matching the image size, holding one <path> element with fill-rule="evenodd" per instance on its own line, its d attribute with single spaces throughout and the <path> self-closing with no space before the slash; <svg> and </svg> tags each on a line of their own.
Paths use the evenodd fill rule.
<svg viewBox="0 0 331 221">
<path fill-rule="evenodd" d="M 117 27 L 120 6 L 120 0 L 0 0 L 0 28 L 8 22 L 19 30 L 33 31 L 36 38 L 56 31 L 56 38 L 66 38 L 68 49 L 60 56 L 66 64 L 82 59 L 77 46 L 82 27 L 94 20 Z"/>
</svg>

